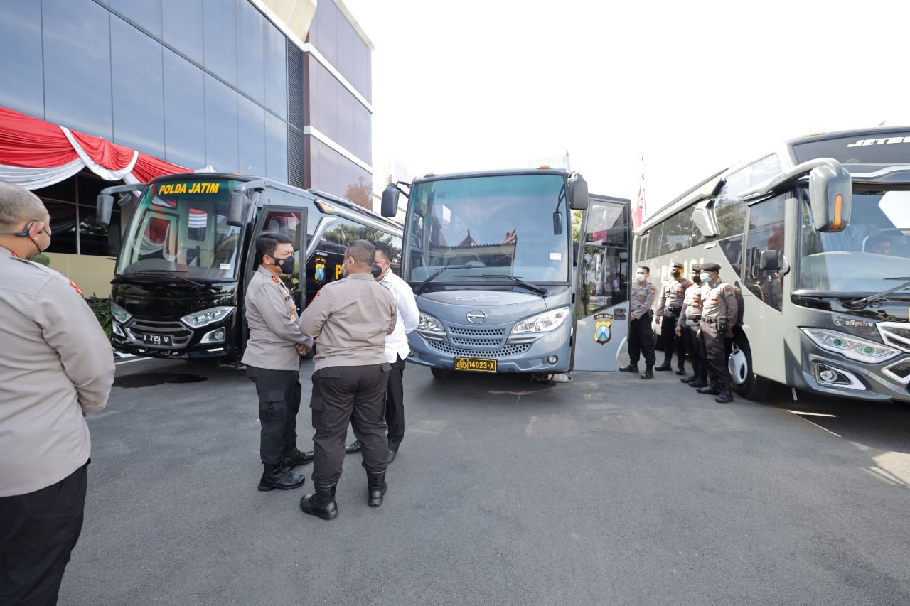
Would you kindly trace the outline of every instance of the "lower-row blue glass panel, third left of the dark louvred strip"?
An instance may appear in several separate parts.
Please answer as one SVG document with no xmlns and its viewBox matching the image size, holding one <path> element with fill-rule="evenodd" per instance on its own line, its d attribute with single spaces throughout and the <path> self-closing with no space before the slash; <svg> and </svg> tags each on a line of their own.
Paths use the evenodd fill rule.
<svg viewBox="0 0 910 606">
<path fill-rule="evenodd" d="M 237 91 L 206 74 L 206 163 L 238 172 Z"/>
</svg>

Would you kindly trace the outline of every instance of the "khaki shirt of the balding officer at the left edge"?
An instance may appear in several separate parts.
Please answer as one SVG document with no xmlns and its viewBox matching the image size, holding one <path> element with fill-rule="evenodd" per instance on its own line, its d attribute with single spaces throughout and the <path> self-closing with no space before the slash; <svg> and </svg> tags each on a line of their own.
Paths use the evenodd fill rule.
<svg viewBox="0 0 910 606">
<path fill-rule="evenodd" d="M 0 247 L 0 497 L 86 464 L 84 413 L 104 409 L 114 351 L 76 284 Z"/>
</svg>

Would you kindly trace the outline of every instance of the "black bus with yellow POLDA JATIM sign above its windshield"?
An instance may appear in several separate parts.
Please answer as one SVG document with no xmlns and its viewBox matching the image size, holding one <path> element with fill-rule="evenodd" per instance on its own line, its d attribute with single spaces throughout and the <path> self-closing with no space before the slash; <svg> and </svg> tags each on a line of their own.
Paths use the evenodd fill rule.
<svg viewBox="0 0 910 606">
<path fill-rule="evenodd" d="M 130 195 L 129 192 L 133 192 Z M 151 358 L 236 359 L 247 328 L 246 286 L 265 231 L 290 237 L 298 259 L 283 276 L 298 313 L 341 276 L 345 248 L 383 241 L 400 272 L 401 227 L 348 200 L 261 177 L 192 173 L 148 184 L 107 187 L 98 217 L 109 222 L 114 195 L 138 195 L 118 244 L 111 288 L 112 342 Z"/>
</svg>

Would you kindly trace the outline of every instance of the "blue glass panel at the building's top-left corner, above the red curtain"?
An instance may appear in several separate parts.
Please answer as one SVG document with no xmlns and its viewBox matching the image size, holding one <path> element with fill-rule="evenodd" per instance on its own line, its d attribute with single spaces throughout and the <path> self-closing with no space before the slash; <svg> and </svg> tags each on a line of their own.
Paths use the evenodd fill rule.
<svg viewBox="0 0 910 606">
<path fill-rule="evenodd" d="M 15 82 L 15 86 L 0 86 L 0 106 L 44 118 L 40 3 L 0 2 L 0 56 L 0 82 Z"/>
</svg>

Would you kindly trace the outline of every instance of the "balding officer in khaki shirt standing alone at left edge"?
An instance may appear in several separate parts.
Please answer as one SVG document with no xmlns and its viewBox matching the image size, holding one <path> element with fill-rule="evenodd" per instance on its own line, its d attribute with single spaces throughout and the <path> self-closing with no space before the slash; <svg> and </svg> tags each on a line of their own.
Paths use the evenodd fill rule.
<svg viewBox="0 0 910 606">
<path fill-rule="evenodd" d="M 51 242 L 34 194 L 0 182 L 0 604 L 54 604 L 86 505 L 87 412 L 114 382 L 76 283 L 26 260 Z"/>
</svg>

